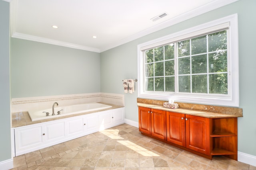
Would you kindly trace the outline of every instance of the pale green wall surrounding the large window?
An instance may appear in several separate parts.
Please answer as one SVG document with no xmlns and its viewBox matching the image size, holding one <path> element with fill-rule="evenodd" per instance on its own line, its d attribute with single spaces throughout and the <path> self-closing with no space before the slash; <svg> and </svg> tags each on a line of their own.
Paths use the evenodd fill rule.
<svg viewBox="0 0 256 170">
<path fill-rule="evenodd" d="M 240 0 L 101 53 L 101 92 L 123 94 L 122 80 L 137 78 L 137 45 L 208 21 L 238 14 L 240 108 L 238 151 L 256 156 L 256 1 Z M 111 76 L 111 77 L 110 77 Z M 136 84 L 136 88 L 137 88 Z M 136 89 L 137 90 L 137 89 Z M 138 122 L 137 91 L 125 94 L 125 118 Z"/>
</svg>

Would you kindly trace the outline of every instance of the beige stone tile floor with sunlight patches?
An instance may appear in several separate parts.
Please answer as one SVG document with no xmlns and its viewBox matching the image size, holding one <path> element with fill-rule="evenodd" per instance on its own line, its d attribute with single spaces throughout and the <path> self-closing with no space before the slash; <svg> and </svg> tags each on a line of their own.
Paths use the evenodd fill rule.
<svg viewBox="0 0 256 170">
<path fill-rule="evenodd" d="M 12 170 L 256 170 L 223 156 L 202 158 L 123 124 L 14 157 Z"/>
</svg>

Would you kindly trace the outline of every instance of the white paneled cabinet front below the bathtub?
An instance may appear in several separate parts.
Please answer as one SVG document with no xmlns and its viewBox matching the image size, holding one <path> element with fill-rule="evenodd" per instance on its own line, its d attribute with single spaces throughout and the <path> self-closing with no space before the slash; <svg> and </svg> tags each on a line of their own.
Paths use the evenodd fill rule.
<svg viewBox="0 0 256 170">
<path fill-rule="evenodd" d="M 15 127 L 15 156 L 124 123 L 124 107 Z"/>
</svg>

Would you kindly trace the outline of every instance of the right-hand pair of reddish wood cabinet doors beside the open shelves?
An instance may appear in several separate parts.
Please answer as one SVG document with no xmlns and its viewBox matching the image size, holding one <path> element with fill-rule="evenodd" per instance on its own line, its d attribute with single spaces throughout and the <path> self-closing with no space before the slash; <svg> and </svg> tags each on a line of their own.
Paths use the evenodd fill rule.
<svg viewBox="0 0 256 170">
<path fill-rule="evenodd" d="M 210 155 L 209 118 L 166 111 L 167 141 Z"/>
</svg>

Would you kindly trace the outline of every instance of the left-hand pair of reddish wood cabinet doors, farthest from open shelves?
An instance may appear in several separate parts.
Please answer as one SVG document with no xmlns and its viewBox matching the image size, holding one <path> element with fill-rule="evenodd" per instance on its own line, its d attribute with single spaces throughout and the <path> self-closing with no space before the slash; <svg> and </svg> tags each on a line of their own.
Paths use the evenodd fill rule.
<svg viewBox="0 0 256 170">
<path fill-rule="evenodd" d="M 139 130 L 166 140 L 166 111 L 139 107 Z"/>
</svg>

